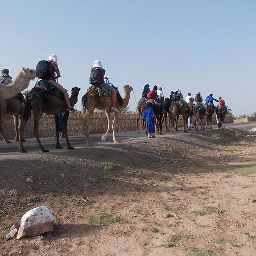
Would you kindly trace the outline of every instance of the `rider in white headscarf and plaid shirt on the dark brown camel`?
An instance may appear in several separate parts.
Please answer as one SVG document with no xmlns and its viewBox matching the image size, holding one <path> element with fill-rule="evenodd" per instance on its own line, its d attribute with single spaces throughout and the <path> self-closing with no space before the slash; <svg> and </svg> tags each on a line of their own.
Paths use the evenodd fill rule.
<svg viewBox="0 0 256 256">
<path fill-rule="evenodd" d="M 60 69 L 57 64 L 57 56 L 55 54 L 51 54 L 48 58 L 48 61 L 49 61 L 49 78 L 46 79 L 46 81 L 50 82 L 57 89 L 63 92 L 64 100 L 67 103 L 67 110 L 76 112 L 77 110 L 73 109 L 73 107 L 71 106 L 67 89 L 65 89 L 62 85 L 60 85 L 59 82 L 56 82 L 56 80 L 59 77 L 61 77 Z"/>
</svg>

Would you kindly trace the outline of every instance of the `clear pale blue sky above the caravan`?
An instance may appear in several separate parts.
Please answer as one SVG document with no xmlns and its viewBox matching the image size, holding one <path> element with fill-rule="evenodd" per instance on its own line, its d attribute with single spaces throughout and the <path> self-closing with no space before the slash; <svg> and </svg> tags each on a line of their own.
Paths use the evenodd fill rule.
<svg viewBox="0 0 256 256">
<path fill-rule="evenodd" d="M 0 0 L 0 69 L 15 77 L 52 53 L 59 83 L 89 87 L 90 68 L 101 60 L 106 76 L 135 111 L 143 86 L 168 97 L 201 92 L 222 96 L 234 115 L 256 112 L 255 0 Z M 32 81 L 29 89 L 35 85 Z"/>
</svg>

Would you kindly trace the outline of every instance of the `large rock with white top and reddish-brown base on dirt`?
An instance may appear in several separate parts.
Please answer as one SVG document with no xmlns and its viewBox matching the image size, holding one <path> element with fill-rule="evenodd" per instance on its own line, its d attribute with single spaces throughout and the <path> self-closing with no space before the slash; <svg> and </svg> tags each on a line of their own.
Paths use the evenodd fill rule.
<svg viewBox="0 0 256 256">
<path fill-rule="evenodd" d="M 46 206 L 36 207 L 26 212 L 20 220 L 17 239 L 21 237 L 39 236 L 53 230 L 55 217 Z"/>
</svg>

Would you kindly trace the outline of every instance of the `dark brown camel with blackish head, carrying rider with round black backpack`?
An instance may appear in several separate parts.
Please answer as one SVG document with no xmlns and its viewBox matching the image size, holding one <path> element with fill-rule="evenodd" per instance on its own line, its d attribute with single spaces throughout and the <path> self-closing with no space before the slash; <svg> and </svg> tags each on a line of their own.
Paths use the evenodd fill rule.
<svg viewBox="0 0 256 256">
<path fill-rule="evenodd" d="M 79 91 L 80 91 L 80 88 L 78 88 L 78 87 L 74 87 L 71 90 L 71 97 L 69 98 L 69 100 L 71 102 L 72 107 L 77 102 L 77 97 L 78 97 Z M 24 150 L 22 142 L 23 142 L 24 129 L 26 127 L 28 119 L 31 117 L 31 111 L 33 112 L 33 117 L 34 117 L 33 133 L 36 138 L 36 141 L 38 141 L 38 144 L 39 144 L 42 152 L 48 152 L 48 150 L 46 150 L 46 148 L 44 148 L 42 143 L 40 142 L 39 134 L 38 134 L 39 121 L 40 121 L 40 118 L 42 117 L 43 113 L 55 115 L 55 127 L 56 127 L 56 135 L 57 135 L 55 148 L 62 148 L 60 146 L 60 142 L 59 142 L 59 132 L 60 132 L 59 114 L 60 114 L 60 112 L 63 112 L 63 114 L 64 114 L 64 135 L 65 135 L 65 139 L 66 139 L 67 146 L 68 146 L 67 149 L 68 150 L 74 149 L 71 146 L 71 144 L 69 143 L 69 139 L 68 139 L 67 124 L 68 124 L 69 112 L 67 110 L 67 104 L 66 104 L 64 98 L 56 97 L 56 95 L 52 94 L 49 90 L 34 87 L 30 91 L 28 96 L 26 97 L 24 115 L 23 115 L 22 122 L 20 123 L 20 127 L 19 127 L 19 134 L 20 134 L 19 152 L 22 152 L 22 153 L 27 152 L 26 150 Z"/>
</svg>

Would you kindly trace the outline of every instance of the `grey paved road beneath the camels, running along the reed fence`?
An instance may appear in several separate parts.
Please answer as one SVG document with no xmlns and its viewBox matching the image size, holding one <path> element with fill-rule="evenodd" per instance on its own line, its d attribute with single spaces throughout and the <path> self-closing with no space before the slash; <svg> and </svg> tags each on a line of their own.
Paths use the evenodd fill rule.
<svg viewBox="0 0 256 256">
<path fill-rule="evenodd" d="M 250 130 L 253 127 L 256 127 L 256 122 L 245 122 L 245 123 L 227 123 L 225 125 L 226 127 L 236 127 L 236 128 L 242 128 L 245 130 Z M 214 129 L 217 129 L 217 126 L 213 126 Z M 181 129 L 180 129 L 181 130 Z M 90 139 L 92 142 L 97 143 L 104 143 L 101 142 L 101 136 L 103 134 L 90 134 Z M 117 138 L 120 139 L 126 139 L 126 138 L 134 138 L 134 137 L 143 137 L 144 131 L 141 131 L 141 134 L 137 134 L 135 131 L 125 131 L 122 133 L 117 133 Z M 45 148 L 48 150 L 54 150 L 55 149 L 55 139 L 53 138 L 40 138 L 42 144 Z M 108 142 L 112 142 L 113 137 L 112 133 L 109 134 Z M 19 148 L 19 142 L 15 142 L 14 140 L 10 140 L 11 143 L 4 143 L 3 141 L 0 141 L 0 154 L 2 153 L 9 153 L 9 152 L 18 152 Z M 86 146 L 85 143 L 85 137 L 84 136 L 71 136 L 69 137 L 69 141 L 71 142 L 73 147 L 83 147 Z M 67 148 L 65 138 L 60 138 L 60 144 L 63 146 L 63 148 Z M 40 148 L 38 146 L 38 142 L 36 142 L 35 138 L 26 139 L 26 142 L 23 144 L 24 148 L 28 152 L 37 152 L 40 151 Z"/>
</svg>

